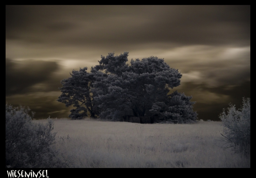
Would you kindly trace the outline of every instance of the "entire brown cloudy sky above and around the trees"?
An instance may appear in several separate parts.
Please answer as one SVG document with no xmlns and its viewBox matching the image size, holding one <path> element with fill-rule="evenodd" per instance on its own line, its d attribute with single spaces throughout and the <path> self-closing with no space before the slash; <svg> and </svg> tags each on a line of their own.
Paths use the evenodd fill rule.
<svg viewBox="0 0 256 178">
<path fill-rule="evenodd" d="M 6 6 L 5 100 L 35 118 L 67 118 L 56 101 L 72 69 L 100 56 L 156 56 L 183 75 L 198 118 L 218 120 L 250 97 L 250 5 Z"/>
</svg>

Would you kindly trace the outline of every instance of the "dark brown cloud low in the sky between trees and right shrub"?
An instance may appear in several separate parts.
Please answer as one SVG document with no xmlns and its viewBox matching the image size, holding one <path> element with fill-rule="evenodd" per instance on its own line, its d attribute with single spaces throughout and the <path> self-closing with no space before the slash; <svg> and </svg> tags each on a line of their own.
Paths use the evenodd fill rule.
<svg viewBox="0 0 256 178">
<path fill-rule="evenodd" d="M 172 89 L 172 92 L 178 90 L 193 97 L 191 101 L 196 101 L 194 110 L 198 113 L 198 119 L 219 120 L 219 114 L 223 108 L 229 107 L 229 103 L 235 104 L 238 109 L 242 105 L 243 97 L 251 97 L 250 86 L 250 81 L 219 87 L 209 87 L 206 83 L 185 82 Z"/>
</svg>

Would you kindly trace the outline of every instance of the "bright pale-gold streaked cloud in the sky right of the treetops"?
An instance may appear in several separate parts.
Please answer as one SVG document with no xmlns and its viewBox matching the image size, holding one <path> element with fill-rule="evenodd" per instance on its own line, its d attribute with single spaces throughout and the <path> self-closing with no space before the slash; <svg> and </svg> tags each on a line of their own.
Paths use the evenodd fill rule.
<svg viewBox="0 0 256 178">
<path fill-rule="evenodd" d="M 211 87 L 250 80 L 250 47 L 183 46 L 163 52 L 165 62 L 179 69 L 181 82 L 197 81 Z"/>
</svg>

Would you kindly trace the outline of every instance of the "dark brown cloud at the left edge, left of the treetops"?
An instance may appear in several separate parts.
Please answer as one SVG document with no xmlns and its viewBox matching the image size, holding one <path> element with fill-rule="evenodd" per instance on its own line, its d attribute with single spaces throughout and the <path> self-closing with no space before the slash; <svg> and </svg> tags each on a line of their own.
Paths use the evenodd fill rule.
<svg viewBox="0 0 256 178">
<path fill-rule="evenodd" d="M 22 60 L 6 58 L 5 95 L 29 93 L 29 87 L 48 80 L 58 64 L 53 61 Z"/>
</svg>

